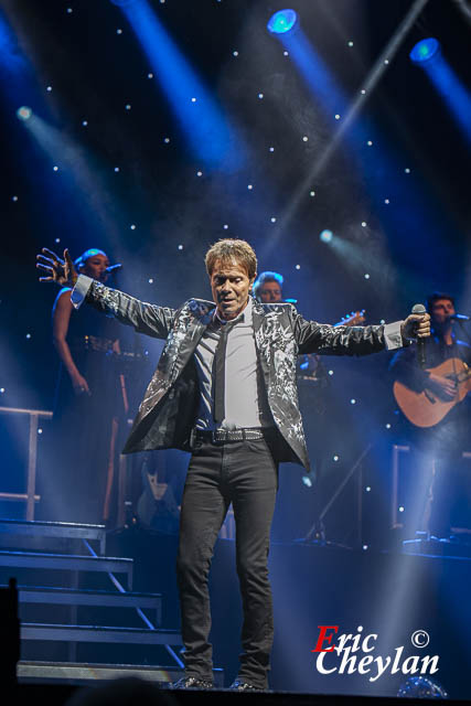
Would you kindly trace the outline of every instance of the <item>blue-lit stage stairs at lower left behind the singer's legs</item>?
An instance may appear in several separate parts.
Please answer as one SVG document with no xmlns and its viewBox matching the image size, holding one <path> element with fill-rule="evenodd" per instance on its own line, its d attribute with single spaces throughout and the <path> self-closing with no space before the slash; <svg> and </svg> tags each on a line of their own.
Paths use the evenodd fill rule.
<svg viewBox="0 0 471 706">
<path fill-rule="evenodd" d="M 0 518 L 0 584 L 18 582 L 19 682 L 179 678 L 181 635 L 162 628 L 160 593 L 132 591 L 133 568 L 106 556 L 104 525 Z M 223 686 L 222 670 L 214 678 Z"/>
</svg>

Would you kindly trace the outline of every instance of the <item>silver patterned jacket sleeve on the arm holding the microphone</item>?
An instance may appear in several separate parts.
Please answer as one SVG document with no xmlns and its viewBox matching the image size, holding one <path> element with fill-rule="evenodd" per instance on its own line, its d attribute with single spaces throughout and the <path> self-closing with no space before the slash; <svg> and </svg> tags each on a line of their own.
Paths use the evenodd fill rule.
<svg viewBox="0 0 471 706">
<path fill-rule="evenodd" d="M 385 325 L 332 327 L 307 321 L 295 308 L 292 318 L 299 354 L 368 355 L 403 345 L 400 321 Z"/>
</svg>

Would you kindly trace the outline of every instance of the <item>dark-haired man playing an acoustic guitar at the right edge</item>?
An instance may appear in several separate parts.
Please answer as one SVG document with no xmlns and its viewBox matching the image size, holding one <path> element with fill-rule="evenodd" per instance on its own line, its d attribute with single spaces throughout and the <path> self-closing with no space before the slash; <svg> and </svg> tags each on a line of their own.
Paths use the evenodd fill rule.
<svg viewBox="0 0 471 706">
<path fill-rule="evenodd" d="M 420 419 L 420 408 L 414 410 L 418 417 L 409 414 L 407 406 L 399 402 L 395 385 L 396 400 L 402 407 L 400 431 L 409 445 L 426 454 L 431 468 L 431 484 L 427 489 L 429 502 L 424 510 L 421 528 L 431 535 L 447 537 L 450 535 L 450 525 L 454 524 L 453 506 L 457 505 L 459 489 L 463 490 L 458 473 L 462 452 L 471 450 L 471 398 L 468 394 L 459 402 L 459 383 L 454 379 L 460 371 L 465 371 L 465 365 L 471 366 L 471 346 L 459 340 L 453 330 L 451 317 L 456 314 L 456 309 L 452 296 L 433 292 L 427 298 L 427 311 L 430 313 L 431 335 L 425 343 L 426 368 L 421 370 L 417 346 L 413 344 L 393 357 L 389 370 L 394 379 L 409 391 L 417 394 L 425 392 L 426 395 L 431 393 L 430 399 L 437 398 L 447 405 L 454 403 L 440 421 L 422 426 L 425 419 Z M 446 361 L 449 372 L 437 370 Z M 470 524 L 468 520 L 467 526 Z"/>
</svg>

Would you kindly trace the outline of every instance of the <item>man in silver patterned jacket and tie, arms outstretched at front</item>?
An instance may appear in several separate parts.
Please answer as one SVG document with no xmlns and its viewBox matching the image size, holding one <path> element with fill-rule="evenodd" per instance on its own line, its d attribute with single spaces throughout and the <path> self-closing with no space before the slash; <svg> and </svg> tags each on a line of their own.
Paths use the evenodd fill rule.
<svg viewBox="0 0 471 706">
<path fill-rule="evenodd" d="M 248 243 L 224 239 L 206 253 L 213 301 L 178 310 L 143 303 L 77 275 L 43 250 L 39 267 L 74 287 L 72 301 L 165 339 L 125 452 L 180 448 L 192 452 L 181 509 L 178 579 L 186 675 L 178 688 L 212 688 L 207 579 L 213 547 L 233 503 L 237 573 L 244 609 L 240 668 L 234 691 L 267 687 L 272 643 L 268 579 L 271 517 L 280 461 L 309 460 L 298 405 L 298 354 L 366 355 L 427 336 L 429 315 L 386 325 L 331 327 L 307 321 L 290 303 L 250 296 L 257 258 Z"/>
</svg>

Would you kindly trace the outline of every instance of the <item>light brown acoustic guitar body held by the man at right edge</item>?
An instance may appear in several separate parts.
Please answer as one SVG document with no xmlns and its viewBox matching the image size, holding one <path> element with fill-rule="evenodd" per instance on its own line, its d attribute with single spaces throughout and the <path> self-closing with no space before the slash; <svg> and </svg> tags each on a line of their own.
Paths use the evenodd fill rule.
<svg viewBox="0 0 471 706">
<path fill-rule="evenodd" d="M 396 381 L 393 386 L 394 397 L 400 411 L 411 424 L 421 428 L 439 424 L 457 404 L 464 399 L 471 389 L 471 372 L 458 357 L 449 359 L 427 372 L 456 381 L 458 389 L 454 399 L 443 402 L 427 388 L 417 393 L 399 381 Z"/>
</svg>

